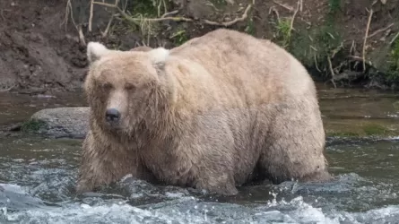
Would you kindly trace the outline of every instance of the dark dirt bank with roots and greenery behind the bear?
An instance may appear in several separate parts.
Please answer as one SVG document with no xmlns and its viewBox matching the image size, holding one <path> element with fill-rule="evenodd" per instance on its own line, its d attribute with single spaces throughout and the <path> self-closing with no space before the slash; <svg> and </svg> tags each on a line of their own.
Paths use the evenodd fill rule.
<svg viewBox="0 0 399 224">
<path fill-rule="evenodd" d="M 84 45 L 91 40 L 120 49 L 143 43 L 173 47 L 219 27 L 273 39 L 307 65 L 317 80 L 395 88 L 399 81 L 396 5 L 399 0 L 356 4 L 349 0 L 257 0 L 255 4 L 252 0 L 126 0 L 119 1 L 120 11 L 94 4 L 91 16 L 90 1 L 2 0 L 0 90 L 80 89 L 87 66 Z"/>
</svg>

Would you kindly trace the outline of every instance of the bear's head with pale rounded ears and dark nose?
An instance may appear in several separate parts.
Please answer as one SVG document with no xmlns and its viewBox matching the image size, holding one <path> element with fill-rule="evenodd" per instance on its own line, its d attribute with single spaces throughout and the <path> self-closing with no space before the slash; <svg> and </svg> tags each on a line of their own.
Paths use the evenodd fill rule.
<svg viewBox="0 0 399 224">
<path fill-rule="evenodd" d="M 101 128 L 131 133 L 161 116 L 171 94 L 163 70 L 169 50 L 119 51 L 90 42 L 87 56 L 90 69 L 84 90 Z"/>
</svg>

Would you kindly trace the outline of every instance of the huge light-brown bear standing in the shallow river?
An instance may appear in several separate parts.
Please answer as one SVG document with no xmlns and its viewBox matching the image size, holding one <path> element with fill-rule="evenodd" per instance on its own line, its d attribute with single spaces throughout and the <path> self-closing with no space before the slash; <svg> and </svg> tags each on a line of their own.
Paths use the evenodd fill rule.
<svg viewBox="0 0 399 224">
<path fill-rule="evenodd" d="M 331 178 L 315 84 L 271 41 L 219 29 L 170 50 L 91 42 L 87 54 L 79 193 L 127 174 L 216 194 Z"/>
</svg>

